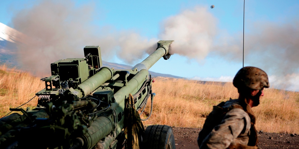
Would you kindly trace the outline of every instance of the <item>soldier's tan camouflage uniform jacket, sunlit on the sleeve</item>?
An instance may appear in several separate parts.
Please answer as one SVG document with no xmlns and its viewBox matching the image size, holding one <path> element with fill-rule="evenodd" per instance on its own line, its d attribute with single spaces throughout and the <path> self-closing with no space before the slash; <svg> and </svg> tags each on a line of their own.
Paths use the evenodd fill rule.
<svg viewBox="0 0 299 149">
<path fill-rule="evenodd" d="M 229 100 L 222 108 L 230 108 L 221 123 L 203 140 L 203 148 L 257 148 L 255 117 L 250 106 L 244 101 Z M 248 146 L 249 145 L 249 146 Z"/>
</svg>

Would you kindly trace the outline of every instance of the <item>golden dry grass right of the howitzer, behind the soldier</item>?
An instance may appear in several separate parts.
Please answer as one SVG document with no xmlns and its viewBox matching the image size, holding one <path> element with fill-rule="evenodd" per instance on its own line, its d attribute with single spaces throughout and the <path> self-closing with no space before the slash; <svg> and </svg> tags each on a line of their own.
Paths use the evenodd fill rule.
<svg viewBox="0 0 299 149">
<path fill-rule="evenodd" d="M 166 124 L 202 128 L 213 105 L 238 97 L 232 83 L 155 78 L 153 114 L 145 125 Z M 265 89 L 261 104 L 253 108 L 257 130 L 299 134 L 299 93 Z M 147 111 L 150 107 L 147 107 Z"/>
</svg>

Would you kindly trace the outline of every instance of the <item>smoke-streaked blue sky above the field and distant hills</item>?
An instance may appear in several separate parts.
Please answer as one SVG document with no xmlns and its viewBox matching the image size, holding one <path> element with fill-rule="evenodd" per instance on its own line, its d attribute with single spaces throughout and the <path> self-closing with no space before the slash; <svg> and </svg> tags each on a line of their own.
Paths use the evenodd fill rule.
<svg viewBox="0 0 299 149">
<path fill-rule="evenodd" d="M 211 5 L 215 7 L 211 9 Z M 39 14 L 44 17 L 35 16 Z M 61 14 L 66 17 L 61 17 Z M 270 84 L 276 88 L 299 91 L 299 62 L 296 60 L 299 56 L 296 44 L 299 41 L 298 16 L 299 1 L 296 0 L 245 1 L 244 66 L 265 70 Z M 31 32 L 37 32 L 36 25 L 28 27 L 32 22 L 40 23 L 41 28 L 50 27 L 49 34 L 57 30 L 70 35 L 63 37 L 71 41 L 61 39 L 60 44 L 49 45 L 55 41 L 51 38 L 45 49 L 39 48 L 41 51 L 36 57 L 41 57 L 45 51 L 55 51 L 55 46 L 64 47 L 61 45 L 73 44 L 74 41 L 74 45 L 79 46 L 78 51 L 87 44 L 97 44 L 101 46 L 103 60 L 133 66 L 148 56 L 140 53 L 146 51 L 148 45 L 158 40 L 175 40 L 173 48 L 177 52 L 169 60 L 159 60 L 151 71 L 198 80 L 232 81 L 242 67 L 242 0 L 2 1 L 0 22 L 29 36 L 35 36 Z M 40 29 L 39 33 L 45 34 L 50 29 Z M 69 31 L 64 32 L 67 29 Z M 127 49 L 123 47 L 128 45 Z M 68 55 L 71 50 L 49 56 L 49 59 L 82 55 Z"/>
</svg>

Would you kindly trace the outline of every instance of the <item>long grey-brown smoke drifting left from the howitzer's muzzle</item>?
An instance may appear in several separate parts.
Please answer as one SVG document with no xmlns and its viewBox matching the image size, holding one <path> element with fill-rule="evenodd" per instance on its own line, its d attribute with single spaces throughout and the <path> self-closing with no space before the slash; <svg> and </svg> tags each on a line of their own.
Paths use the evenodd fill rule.
<svg viewBox="0 0 299 149">
<path fill-rule="evenodd" d="M 18 46 L 19 65 L 35 74 L 50 73 L 51 63 L 82 58 L 87 45 L 100 45 L 104 60 L 117 55 L 132 63 L 157 42 L 135 32 L 114 32 L 113 27 L 91 25 L 93 6 L 90 3 L 77 7 L 70 0 L 41 1 L 19 11 L 13 18 L 14 28 L 28 37 Z"/>
</svg>

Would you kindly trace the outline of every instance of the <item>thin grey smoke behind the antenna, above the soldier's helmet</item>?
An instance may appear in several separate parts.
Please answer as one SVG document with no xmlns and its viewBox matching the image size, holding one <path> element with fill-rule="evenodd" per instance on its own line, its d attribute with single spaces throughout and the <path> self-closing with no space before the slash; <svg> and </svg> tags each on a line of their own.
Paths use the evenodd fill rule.
<svg viewBox="0 0 299 149">
<path fill-rule="evenodd" d="M 297 23 L 256 22 L 245 34 L 244 61 L 276 75 L 298 72 L 299 27 Z M 223 37 L 223 36 L 222 36 Z M 230 60 L 242 60 L 242 34 L 222 38 L 213 53 Z"/>
</svg>

